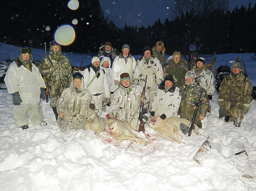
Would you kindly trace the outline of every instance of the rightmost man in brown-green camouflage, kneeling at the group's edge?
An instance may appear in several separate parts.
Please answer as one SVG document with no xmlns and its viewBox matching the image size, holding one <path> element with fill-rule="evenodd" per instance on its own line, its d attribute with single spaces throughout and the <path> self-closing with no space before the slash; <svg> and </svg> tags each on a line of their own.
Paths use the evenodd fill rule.
<svg viewBox="0 0 256 191">
<path fill-rule="evenodd" d="M 250 79 L 241 74 L 244 71 L 241 63 L 234 62 L 232 74 L 224 78 L 218 93 L 219 118 L 225 116 L 225 121 L 233 121 L 240 127 L 244 114 L 249 111 L 252 100 L 252 84 Z"/>
</svg>

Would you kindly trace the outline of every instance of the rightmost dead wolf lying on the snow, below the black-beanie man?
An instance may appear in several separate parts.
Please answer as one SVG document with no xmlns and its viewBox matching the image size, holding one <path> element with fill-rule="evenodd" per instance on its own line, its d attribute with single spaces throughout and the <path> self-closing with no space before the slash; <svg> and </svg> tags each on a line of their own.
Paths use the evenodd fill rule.
<svg viewBox="0 0 256 191">
<path fill-rule="evenodd" d="M 147 123 L 150 128 L 158 131 L 162 135 L 169 137 L 177 143 L 184 143 L 180 140 L 182 136 L 178 133 L 188 130 L 190 121 L 179 117 L 170 117 L 162 120 L 160 116 L 150 116 Z M 199 128 L 195 125 L 195 129 L 192 132 L 198 135 L 198 130 Z"/>
</svg>

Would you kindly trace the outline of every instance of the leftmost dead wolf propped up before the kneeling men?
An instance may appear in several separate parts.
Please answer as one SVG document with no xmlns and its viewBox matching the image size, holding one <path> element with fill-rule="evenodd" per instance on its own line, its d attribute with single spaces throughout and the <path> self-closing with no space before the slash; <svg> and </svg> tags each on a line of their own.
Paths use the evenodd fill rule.
<svg viewBox="0 0 256 191">
<path fill-rule="evenodd" d="M 87 109 L 85 114 L 85 131 L 91 129 L 94 131 L 95 135 L 100 135 L 102 131 L 105 130 L 105 121 L 97 115 L 99 109 Z"/>
</svg>

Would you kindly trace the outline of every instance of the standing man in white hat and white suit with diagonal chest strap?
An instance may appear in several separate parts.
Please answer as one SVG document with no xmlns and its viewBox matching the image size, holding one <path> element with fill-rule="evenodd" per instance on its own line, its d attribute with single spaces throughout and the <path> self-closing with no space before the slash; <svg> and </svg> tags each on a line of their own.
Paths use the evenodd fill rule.
<svg viewBox="0 0 256 191">
<path fill-rule="evenodd" d="M 84 86 L 92 93 L 95 108 L 99 109 L 98 115 L 101 116 L 102 100 L 105 98 L 104 102 L 108 103 L 110 92 L 105 71 L 100 69 L 100 59 L 96 56 L 93 57 L 92 64 L 89 64 L 89 67 L 82 72 L 82 75 L 85 77 Z"/>
</svg>

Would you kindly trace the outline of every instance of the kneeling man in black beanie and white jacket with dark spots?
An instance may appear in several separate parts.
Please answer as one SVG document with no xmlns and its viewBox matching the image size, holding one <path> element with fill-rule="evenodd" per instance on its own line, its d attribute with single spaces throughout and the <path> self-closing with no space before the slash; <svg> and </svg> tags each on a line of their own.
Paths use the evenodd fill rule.
<svg viewBox="0 0 256 191">
<path fill-rule="evenodd" d="M 164 120 L 172 116 L 177 117 L 181 93 L 174 85 L 174 77 L 171 75 L 165 76 L 163 83 L 155 94 L 150 115 L 160 115 Z"/>
</svg>

